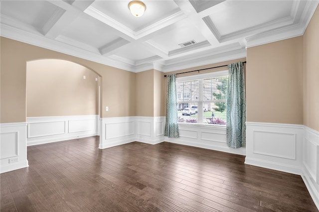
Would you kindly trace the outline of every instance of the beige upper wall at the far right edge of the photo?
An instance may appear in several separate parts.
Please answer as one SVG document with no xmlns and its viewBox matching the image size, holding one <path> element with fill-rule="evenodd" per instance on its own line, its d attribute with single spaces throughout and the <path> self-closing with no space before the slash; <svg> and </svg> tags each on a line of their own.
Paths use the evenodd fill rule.
<svg viewBox="0 0 319 212">
<path fill-rule="evenodd" d="M 304 124 L 319 131 L 319 7 L 317 7 L 304 41 Z"/>
</svg>

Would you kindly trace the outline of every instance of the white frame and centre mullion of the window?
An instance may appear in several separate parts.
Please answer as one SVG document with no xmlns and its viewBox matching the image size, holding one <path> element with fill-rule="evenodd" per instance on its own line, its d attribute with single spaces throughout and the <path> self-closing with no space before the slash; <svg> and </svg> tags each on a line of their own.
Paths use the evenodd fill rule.
<svg viewBox="0 0 319 212">
<path fill-rule="evenodd" d="M 177 77 L 176 84 L 178 82 L 183 82 L 183 81 L 199 80 L 198 105 L 197 105 L 197 122 L 198 123 L 178 123 L 178 124 L 185 124 L 185 125 L 195 124 L 195 125 L 212 126 L 212 127 L 226 127 L 225 125 L 204 124 L 203 123 L 203 111 L 200 108 L 203 108 L 204 101 L 202 99 L 203 98 L 202 97 L 202 91 L 203 91 L 202 81 L 200 81 L 200 80 L 207 79 L 207 78 L 223 77 L 223 76 L 227 76 L 227 75 L 228 75 L 228 70 L 224 70 L 224 71 L 212 72 L 212 73 L 207 73 L 207 74 L 198 74 L 198 75 L 192 75 L 192 76 L 186 76 L 186 77 Z M 183 102 L 178 102 L 178 103 L 183 103 Z"/>
</svg>

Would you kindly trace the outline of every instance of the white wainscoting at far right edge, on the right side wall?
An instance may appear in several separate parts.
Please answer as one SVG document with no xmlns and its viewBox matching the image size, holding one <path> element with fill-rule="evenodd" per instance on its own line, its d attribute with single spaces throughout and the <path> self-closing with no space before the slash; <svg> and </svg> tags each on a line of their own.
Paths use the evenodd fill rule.
<svg viewBox="0 0 319 212">
<path fill-rule="evenodd" d="M 319 132 L 304 126 L 302 178 L 319 209 Z"/>
</svg>

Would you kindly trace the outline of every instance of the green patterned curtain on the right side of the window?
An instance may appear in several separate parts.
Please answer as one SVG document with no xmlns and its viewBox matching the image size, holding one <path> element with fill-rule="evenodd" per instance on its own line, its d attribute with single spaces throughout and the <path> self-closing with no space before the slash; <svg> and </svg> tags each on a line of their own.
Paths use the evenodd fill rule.
<svg viewBox="0 0 319 212">
<path fill-rule="evenodd" d="M 246 95 L 243 62 L 228 65 L 226 138 L 232 148 L 246 147 Z"/>
</svg>

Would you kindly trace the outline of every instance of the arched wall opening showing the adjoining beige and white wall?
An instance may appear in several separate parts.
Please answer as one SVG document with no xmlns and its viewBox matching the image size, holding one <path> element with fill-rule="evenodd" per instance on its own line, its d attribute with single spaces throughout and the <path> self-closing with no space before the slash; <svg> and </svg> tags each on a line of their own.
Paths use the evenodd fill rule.
<svg viewBox="0 0 319 212">
<path fill-rule="evenodd" d="M 98 135 L 100 76 L 80 64 L 26 64 L 27 145 Z"/>
</svg>

